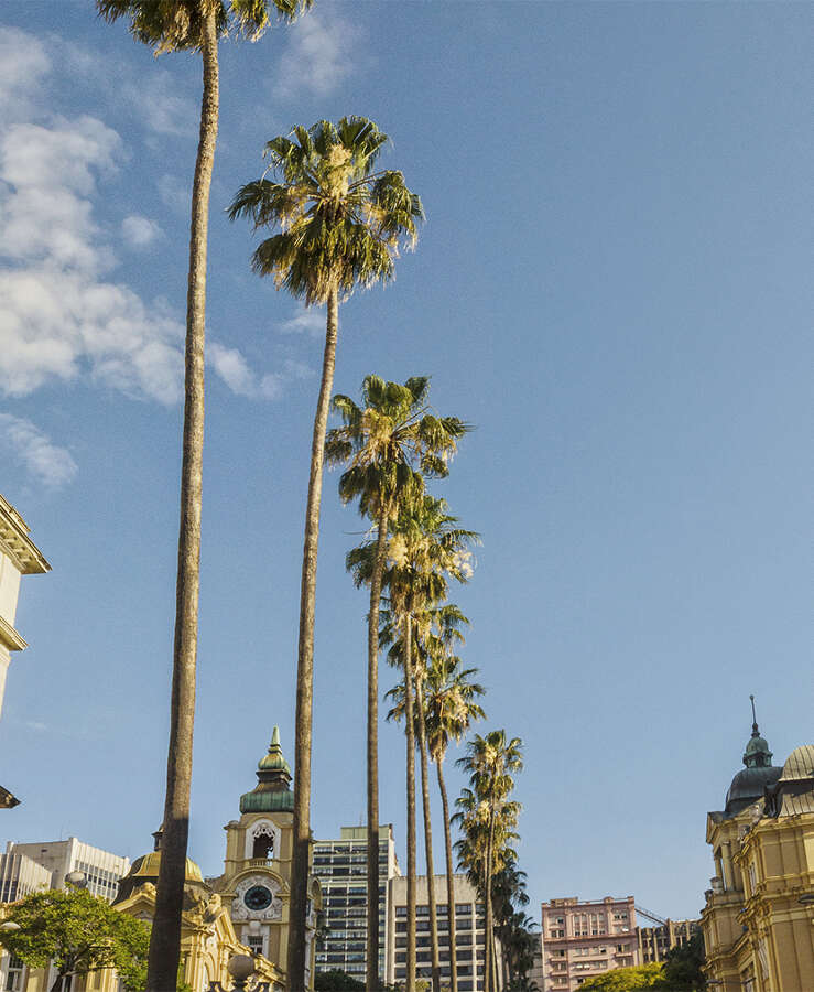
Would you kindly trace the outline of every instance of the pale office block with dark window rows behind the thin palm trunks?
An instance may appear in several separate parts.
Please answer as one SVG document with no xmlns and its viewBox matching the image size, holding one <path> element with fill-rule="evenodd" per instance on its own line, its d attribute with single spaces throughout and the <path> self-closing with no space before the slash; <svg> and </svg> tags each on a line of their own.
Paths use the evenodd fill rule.
<svg viewBox="0 0 814 992">
<path fill-rule="evenodd" d="M 484 905 L 478 901 L 474 886 L 466 875 L 455 875 L 455 962 L 458 992 L 484 992 L 486 959 L 486 928 Z M 441 983 L 449 980 L 449 906 L 446 892 L 446 875 L 434 875 L 435 916 L 438 926 L 438 957 Z M 406 978 L 406 878 L 390 880 L 388 917 L 388 977 L 389 983 L 400 984 Z M 426 875 L 416 881 L 416 968 L 419 979 L 431 978 L 430 951 L 430 901 Z M 497 955 L 500 944 L 496 941 Z M 502 972 L 498 969 L 498 989 L 502 988 Z"/>
</svg>

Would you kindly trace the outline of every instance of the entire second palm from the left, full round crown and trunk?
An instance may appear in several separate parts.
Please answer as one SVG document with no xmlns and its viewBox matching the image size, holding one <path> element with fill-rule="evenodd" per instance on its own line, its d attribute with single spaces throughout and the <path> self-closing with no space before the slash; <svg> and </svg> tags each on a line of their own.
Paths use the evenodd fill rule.
<svg viewBox="0 0 814 992">
<path fill-rule="evenodd" d="M 357 285 L 393 276 L 399 247 L 413 245 L 423 218 L 419 197 L 400 172 L 375 171 L 388 136 L 363 117 L 336 125 L 317 121 L 265 145 L 269 170 L 242 186 L 229 207 L 254 228 L 278 229 L 254 251 L 252 266 L 294 296 L 326 304 L 322 381 L 311 442 L 308 495 L 300 589 L 294 742 L 294 850 L 292 861 L 289 980 L 304 980 L 305 909 L 311 832 L 311 737 L 314 683 L 316 556 L 325 433 L 334 386 L 339 301 Z M 378 851 L 376 852 L 378 864 Z"/>
</svg>

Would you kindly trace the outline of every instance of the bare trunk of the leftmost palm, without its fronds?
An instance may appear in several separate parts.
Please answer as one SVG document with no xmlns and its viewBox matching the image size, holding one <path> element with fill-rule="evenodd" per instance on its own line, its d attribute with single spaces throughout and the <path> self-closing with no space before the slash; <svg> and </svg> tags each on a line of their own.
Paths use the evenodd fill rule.
<svg viewBox="0 0 814 992">
<path fill-rule="evenodd" d="M 178 565 L 175 586 L 170 746 L 166 762 L 164 833 L 161 845 L 155 917 L 150 935 L 146 988 L 174 992 L 181 955 L 181 910 L 184 899 L 189 834 L 195 662 L 200 585 L 200 500 L 204 453 L 204 338 L 206 251 L 209 186 L 218 133 L 218 40 L 215 13 L 206 15 L 202 61 L 204 93 L 195 161 L 189 225 L 189 272 L 186 296 L 184 429 L 181 466 Z"/>
</svg>

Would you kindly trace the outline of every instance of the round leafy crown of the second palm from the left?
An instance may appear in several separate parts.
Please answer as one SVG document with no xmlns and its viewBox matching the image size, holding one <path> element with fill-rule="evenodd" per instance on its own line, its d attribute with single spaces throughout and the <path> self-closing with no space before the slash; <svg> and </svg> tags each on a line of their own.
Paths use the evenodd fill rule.
<svg viewBox="0 0 814 992">
<path fill-rule="evenodd" d="M 390 279 L 400 247 L 415 244 L 424 212 L 401 172 L 373 171 L 387 141 L 363 117 L 321 120 L 269 141 L 278 181 L 248 183 L 229 207 L 232 219 L 279 228 L 254 251 L 254 270 L 306 304 Z"/>
</svg>

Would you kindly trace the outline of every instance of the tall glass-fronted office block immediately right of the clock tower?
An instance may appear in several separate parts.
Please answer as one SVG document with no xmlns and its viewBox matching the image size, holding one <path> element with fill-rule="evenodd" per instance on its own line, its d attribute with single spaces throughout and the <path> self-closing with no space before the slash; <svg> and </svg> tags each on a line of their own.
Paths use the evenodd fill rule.
<svg viewBox="0 0 814 992">
<path fill-rule="evenodd" d="M 368 829 L 341 827 L 338 840 L 314 843 L 313 872 L 323 894 L 317 974 L 339 969 L 356 978 L 367 967 Z M 379 975 L 387 974 L 388 882 L 400 875 L 393 824 L 379 827 Z"/>
</svg>

